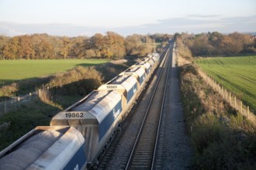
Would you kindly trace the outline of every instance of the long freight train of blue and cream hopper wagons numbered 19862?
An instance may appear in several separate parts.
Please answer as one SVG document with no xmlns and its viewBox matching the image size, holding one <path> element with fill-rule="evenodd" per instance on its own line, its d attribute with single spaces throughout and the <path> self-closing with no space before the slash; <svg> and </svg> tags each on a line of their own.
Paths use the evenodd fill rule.
<svg viewBox="0 0 256 170">
<path fill-rule="evenodd" d="M 86 169 L 99 162 L 159 63 L 139 63 L 0 152 L 0 169 Z"/>
</svg>

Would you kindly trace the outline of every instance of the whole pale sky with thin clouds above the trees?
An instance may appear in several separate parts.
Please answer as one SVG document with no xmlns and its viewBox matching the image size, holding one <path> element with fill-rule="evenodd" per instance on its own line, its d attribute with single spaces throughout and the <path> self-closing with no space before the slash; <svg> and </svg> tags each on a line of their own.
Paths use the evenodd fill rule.
<svg viewBox="0 0 256 170">
<path fill-rule="evenodd" d="M 0 34 L 256 32 L 255 0 L 0 0 Z"/>
</svg>

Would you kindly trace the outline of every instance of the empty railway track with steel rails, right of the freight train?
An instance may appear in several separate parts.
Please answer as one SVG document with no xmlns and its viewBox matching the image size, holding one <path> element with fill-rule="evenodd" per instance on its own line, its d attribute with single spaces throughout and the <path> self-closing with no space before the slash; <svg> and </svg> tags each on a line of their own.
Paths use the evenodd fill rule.
<svg viewBox="0 0 256 170">
<path fill-rule="evenodd" d="M 157 80 L 150 104 L 147 107 L 144 121 L 141 124 L 137 139 L 133 145 L 126 169 L 154 168 L 154 157 L 157 148 L 157 137 L 161 124 L 161 113 L 164 106 L 165 89 L 168 83 L 168 70 L 171 59 L 166 56 Z"/>
</svg>

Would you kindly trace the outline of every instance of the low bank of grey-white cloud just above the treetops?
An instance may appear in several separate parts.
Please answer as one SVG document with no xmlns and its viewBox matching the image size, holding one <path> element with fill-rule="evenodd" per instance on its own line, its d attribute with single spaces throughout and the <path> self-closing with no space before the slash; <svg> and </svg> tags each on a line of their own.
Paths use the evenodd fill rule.
<svg viewBox="0 0 256 170">
<path fill-rule="evenodd" d="M 139 26 L 115 28 L 77 26 L 71 24 L 18 24 L 0 22 L 0 34 L 17 36 L 22 34 L 47 33 L 53 36 L 93 36 L 107 31 L 123 36 L 133 33 L 175 33 L 175 32 L 255 32 L 256 15 L 247 17 L 221 18 L 220 15 L 189 15 L 183 18 L 161 19 Z"/>
</svg>

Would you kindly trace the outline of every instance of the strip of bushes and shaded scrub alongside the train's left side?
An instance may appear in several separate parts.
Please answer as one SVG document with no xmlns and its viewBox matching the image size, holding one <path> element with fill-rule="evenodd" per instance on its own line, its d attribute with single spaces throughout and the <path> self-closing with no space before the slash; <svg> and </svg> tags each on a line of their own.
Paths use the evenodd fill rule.
<svg viewBox="0 0 256 170">
<path fill-rule="evenodd" d="M 36 126 L 49 125 L 51 118 L 59 111 L 133 64 L 133 60 L 126 60 L 123 63 L 106 63 L 104 66 L 78 66 L 67 72 L 54 74 L 45 84 L 50 89 L 42 90 L 45 95 L 40 99 L 21 105 L 19 110 L 0 115 L 0 151 Z"/>
</svg>

